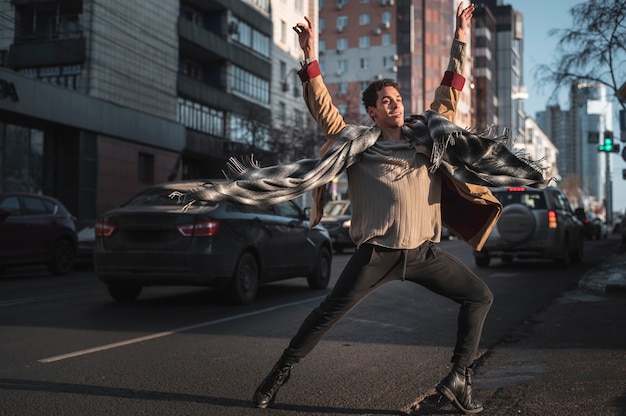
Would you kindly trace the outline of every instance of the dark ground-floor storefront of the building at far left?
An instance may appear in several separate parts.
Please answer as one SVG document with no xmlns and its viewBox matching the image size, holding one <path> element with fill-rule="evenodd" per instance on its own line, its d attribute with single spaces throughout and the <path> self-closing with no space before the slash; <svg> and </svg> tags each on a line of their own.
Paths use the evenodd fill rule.
<svg viewBox="0 0 626 416">
<path fill-rule="evenodd" d="M 79 227 L 178 177 L 185 128 L 0 68 L 0 192 L 60 199 Z"/>
</svg>

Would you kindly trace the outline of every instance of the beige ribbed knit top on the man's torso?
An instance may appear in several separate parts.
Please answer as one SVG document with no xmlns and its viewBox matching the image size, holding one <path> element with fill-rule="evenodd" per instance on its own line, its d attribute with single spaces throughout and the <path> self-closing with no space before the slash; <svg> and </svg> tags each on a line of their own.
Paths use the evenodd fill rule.
<svg viewBox="0 0 626 416">
<path fill-rule="evenodd" d="M 348 168 L 350 236 L 358 245 L 411 249 L 441 234 L 441 178 L 406 141 L 379 138 Z"/>
</svg>

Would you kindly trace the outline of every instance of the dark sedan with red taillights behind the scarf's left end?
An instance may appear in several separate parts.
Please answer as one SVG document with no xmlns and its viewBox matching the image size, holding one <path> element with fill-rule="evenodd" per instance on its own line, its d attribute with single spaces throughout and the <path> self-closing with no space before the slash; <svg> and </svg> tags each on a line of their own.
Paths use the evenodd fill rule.
<svg viewBox="0 0 626 416">
<path fill-rule="evenodd" d="M 296 203 L 197 201 L 183 212 L 170 198 L 204 182 L 152 186 L 98 220 L 95 271 L 114 299 L 133 301 L 151 285 L 224 288 L 238 303 L 253 302 L 259 284 L 281 279 L 327 287 L 330 237 L 319 225 L 309 229 Z"/>
</svg>

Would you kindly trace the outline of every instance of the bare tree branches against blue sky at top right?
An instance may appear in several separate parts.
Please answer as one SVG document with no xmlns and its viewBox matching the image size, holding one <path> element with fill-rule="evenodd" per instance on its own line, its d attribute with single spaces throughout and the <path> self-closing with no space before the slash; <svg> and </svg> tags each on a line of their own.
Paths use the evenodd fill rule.
<svg viewBox="0 0 626 416">
<path fill-rule="evenodd" d="M 626 82 L 626 0 L 589 0 L 570 9 L 571 29 L 553 29 L 559 36 L 554 66 L 540 65 L 540 84 L 554 85 L 552 97 L 572 84 L 603 84 L 617 95 Z M 626 110 L 626 100 L 621 100 Z"/>
</svg>

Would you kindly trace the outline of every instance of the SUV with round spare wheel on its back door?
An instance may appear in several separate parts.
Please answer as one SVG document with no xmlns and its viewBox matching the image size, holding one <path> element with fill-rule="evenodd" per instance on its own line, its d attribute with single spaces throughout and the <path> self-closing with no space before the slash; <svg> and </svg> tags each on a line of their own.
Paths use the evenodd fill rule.
<svg viewBox="0 0 626 416">
<path fill-rule="evenodd" d="M 567 265 L 581 262 L 584 232 L 563 192 L 556 187 L 493 188 L 502 203 L 502 216 L 481 251 L 474 252 L 479 267 L 492 258 L 551 259 Z"/>
</svg>

